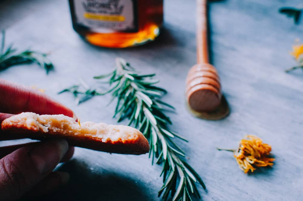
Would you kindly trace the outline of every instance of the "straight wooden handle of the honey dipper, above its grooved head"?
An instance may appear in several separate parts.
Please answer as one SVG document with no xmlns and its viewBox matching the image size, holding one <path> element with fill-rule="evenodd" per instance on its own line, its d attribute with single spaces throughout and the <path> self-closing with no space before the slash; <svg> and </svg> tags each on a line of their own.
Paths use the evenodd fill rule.
<svg viewBox="0 0 303 201">
<path fill-rule="evenodd" d="M 197 0 L 197 63 L 209 63 L 207 39 L 207 0 Z"/>
</svg>

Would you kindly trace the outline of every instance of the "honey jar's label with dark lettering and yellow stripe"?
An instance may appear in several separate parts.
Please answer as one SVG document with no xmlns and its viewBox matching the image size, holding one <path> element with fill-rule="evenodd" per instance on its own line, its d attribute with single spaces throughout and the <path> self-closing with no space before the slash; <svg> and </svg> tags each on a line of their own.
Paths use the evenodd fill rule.
<svg viewBox="0 0 303 201">
<path fill-rule="evenodd" d="M 136 0 L 74 0 L 77 24 L 101 33 L 137 32 Z"/>
</svg>

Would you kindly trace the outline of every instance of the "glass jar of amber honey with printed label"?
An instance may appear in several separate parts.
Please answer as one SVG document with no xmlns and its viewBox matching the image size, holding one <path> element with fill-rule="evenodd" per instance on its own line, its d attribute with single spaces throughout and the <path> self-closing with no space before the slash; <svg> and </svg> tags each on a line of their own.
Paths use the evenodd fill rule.
<svg viewBox="0 0 303 201">
<path fill-rule="evenodd" d="M 74 30 L 89 43 L 125 48 L 153 41 L 163 0 L 69 0 Z"/>
</svg>

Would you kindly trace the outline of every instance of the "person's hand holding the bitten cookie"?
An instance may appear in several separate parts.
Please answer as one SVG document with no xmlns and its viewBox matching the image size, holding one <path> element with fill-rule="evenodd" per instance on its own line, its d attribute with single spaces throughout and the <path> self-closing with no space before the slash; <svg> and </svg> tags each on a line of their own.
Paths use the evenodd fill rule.
<svg viewBox="0 0 303 201">
<path fill-rule="evenodd" d="M 0 124 L 13 114 L 64 114 L 75 118 L 72 110 L 44 93 L 0 79 Z M 0 140 L 14 139 L 1 131 Z M 60 162 L 69 160 L 74 147 L 65 140 L 49 140 L 0 147 L 0 200 L 38 196 L 67 183 L 69 174 L 52 172 Z"/>
</svg>

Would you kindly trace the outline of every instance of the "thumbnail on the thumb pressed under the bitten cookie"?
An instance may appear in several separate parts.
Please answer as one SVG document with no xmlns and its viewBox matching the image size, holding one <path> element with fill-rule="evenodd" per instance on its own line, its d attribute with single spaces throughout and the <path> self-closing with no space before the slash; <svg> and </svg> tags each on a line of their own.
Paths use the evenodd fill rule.
<svg viewBox="0 0 303 201">
<path fill-rule="evenodd" d="M 68 150 L 65 140 L 51 140 L 41 143 L 30 151 L 30 157 L 40 174 L 47 173 L 55 168 Z"/>
</svg>

